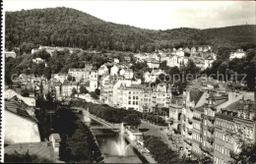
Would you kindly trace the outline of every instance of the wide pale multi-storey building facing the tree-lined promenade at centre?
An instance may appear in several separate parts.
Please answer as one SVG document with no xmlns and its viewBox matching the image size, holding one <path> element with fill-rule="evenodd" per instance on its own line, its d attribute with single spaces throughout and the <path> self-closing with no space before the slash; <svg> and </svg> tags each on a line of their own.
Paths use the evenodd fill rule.
<svg viewBox="0 0 256 164">
<path fill-rule="evenodd" d="M 156 107 L 168 107 L 171 92 L 166 83 L 161 82 L 157 86 L 151 87 L 145 84 L 130 84 L 125 81 L 119 81 L 119 87 L 116 87 L 115 97 L 118 98 L 114 100 L 114 104 L 118 107 L 133 108 L 140 112 L 152 112 Z"/>
</svg>

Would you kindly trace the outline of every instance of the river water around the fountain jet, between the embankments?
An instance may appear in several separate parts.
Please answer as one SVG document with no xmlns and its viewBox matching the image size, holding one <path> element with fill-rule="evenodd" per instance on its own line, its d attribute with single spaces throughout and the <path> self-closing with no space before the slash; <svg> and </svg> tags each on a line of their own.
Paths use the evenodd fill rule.
<svg viewBox="0 0 256 164">
<path fill-rule="evenodd" d="M 91 127 L 102 126 L 94 120 L 92 120 L 91 123 L 87 123 L 87 125 Z M 104 156 L 105 163 L 142 163 L 142 160 L 134 152 L 131 146 L 127 147 L 125 156 L 118 155 L 118 152 L 115 148 L 115 143 L 119 138 L 117 133 L 106 129 L 94 129 L 93 132 L 96 136 L 99 149 Z"/>
</svg>

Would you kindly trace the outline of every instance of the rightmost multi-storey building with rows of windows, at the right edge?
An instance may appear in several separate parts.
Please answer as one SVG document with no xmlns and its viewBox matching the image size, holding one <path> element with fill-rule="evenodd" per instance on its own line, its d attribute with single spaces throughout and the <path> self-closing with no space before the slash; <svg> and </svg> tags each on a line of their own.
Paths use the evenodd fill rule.
<svg viewBox="0 0 256 164">
<path fill-rule="evenodd" d="M 237 100 L 216 114 L 215 163 L 225 164 L 232 161 L 230 152 L 239 152 L 242 142 L 255 143 L 255 114 L 253 98 Z"/>
</svg>

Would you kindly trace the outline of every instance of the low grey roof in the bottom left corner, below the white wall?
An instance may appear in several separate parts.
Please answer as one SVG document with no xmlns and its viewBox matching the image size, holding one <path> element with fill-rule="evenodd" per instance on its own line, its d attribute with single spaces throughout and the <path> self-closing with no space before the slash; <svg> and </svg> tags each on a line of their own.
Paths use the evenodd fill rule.
<svg viewBox="0 0 256 164">
<path fill-rule="evenodd" d="M 54 150 L 51 142 L 43 141 L 43 142 L 31 142 L 31 143 L 15 143 L 8 145 L 4 148 L 5 154 L 15 154 L 16 152 L 19 154 L 26 154 L 29 151 L 32 158 L 33 163 L 40 162 L 55 162 L 54 158 Z"/>
</svg>

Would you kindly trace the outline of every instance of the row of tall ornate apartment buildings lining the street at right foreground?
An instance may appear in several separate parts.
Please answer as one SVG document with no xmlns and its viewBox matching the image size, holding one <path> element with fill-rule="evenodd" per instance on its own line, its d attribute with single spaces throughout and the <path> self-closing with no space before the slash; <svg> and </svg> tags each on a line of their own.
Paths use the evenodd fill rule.
<svg viewBox="0 0 256 164">
<path fill-rule="evenodd" d="M 172 96 L 168 131 L 182 138 L 187 156 L 229 163 L 241 140 L 256 142 L 255 102 L 254 92 L 232 90 L 224 82 L 194 82 L 182 96 Z"/>
</svg>

